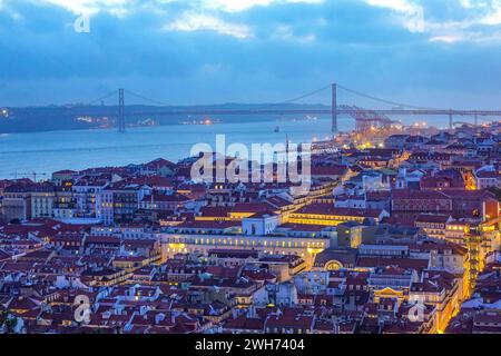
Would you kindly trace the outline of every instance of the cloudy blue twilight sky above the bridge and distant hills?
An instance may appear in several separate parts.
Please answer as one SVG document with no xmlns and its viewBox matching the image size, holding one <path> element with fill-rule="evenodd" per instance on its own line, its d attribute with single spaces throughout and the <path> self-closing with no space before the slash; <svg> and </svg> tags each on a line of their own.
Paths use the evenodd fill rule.
<svg viewBox="0 0 501 356">
<path fill-rule="evenodd" d="M 81 14 L 89 33 L 75 30 Z M 332 81 L 500 108 L 501 0 L 0 0 L 0 106 L 120 87 L 171 103 L 274 102 Z"/>
</svg>

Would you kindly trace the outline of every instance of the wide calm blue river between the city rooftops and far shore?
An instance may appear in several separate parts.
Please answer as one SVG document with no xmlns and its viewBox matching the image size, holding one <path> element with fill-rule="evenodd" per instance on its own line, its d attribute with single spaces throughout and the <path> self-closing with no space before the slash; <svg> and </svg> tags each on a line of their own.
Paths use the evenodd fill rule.
<svg viewBox="0 0 501 356">
<path fill-rule="evenodd" d="M 346 127 L 343 127 L 343 123 Z M 353 128 L 343 122 L 341 129 Z M 275 128 L 279 127 L 279 132 Z M 42 172 L 48 178 L 60 169 L 140 164 L 163 157 L 173 161 L 188 157 L 191 147 L 205 142 L 215 147 L 216 135 L 226 135 L 226 145 L 310 142 L 328 137 L 331 121 L 273 120 L 239 123 L 175 125 L 116 130 L 76 130 L 35 134 L 0 134 L 0 178 Z"/>
</svg>

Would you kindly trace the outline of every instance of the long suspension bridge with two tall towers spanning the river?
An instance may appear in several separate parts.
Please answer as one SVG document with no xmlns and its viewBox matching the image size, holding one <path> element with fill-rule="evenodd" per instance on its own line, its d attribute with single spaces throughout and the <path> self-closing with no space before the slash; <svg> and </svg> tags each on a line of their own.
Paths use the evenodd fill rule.
<svg viewBox="0 0 501 356">
<path fill-rule="evenodd" d="M 306 99 L 314 95 L 317 95 L 322 91 L 331 90 L 331 106 L 325 106 L 323 108 L 308 108 L 308 109 L 284 109 L 279 108 L 281 106 L 287 103 L 296 103 L 299 100 Z M 338 102 L 337 93 L 338 91 L 345 91 L 357 97 L 373 100 L 380 103 L 390 105 L 392 108 L 390 109 L 365 109 L 357 106 L 350 105 L 341 105 Z M 400 123 L 392 119 L 394 116 L 444 116 L 449 117 L 449 128 L 452 129 L 456 125 L 469 125 L 469 126 L 478 126 L 479 119 L 485 118 L 497 118 L 501 119 L 501 110 L 459 110 L 459 109 L 435 109 L 435 108 L 425 108 L 418 107 L 409 103 L 396 102 L 392 100 L 386 100 L 382 98 L 377 98 L 361 91 L 356 91 L 338 83 L 332 83 L 314 91 L 304 93 L 302 96 L 281 101 L 277 103 L 268 103 L 256 108 L 250 109 L 215 109 L 215 108 L 180 108 L 177 106 L 173 106 L 159 100 L 155 100 L 139 93 L 126 90 L 118 89 L 115 90 L 105 97 L 98 98 L 94 100 L 90 105 L 94 105 L 97 101 L 101 101 L 108 99 L 110 97 L 116 97 L 118 93 L 118 112 L 117 112 L 117 127 L 120 132 L 125 132 L 126 130 L 126 117 L 127 116 L 252 116 L 252 115 L 266 115 L 266 116 L 284 116 L 284 115 L 327 115 L 331 116 L 332 120 L 332 135 L 336 136 L 338 131 L 338 120 L 341 117 L 348 117 L 355 120 L 356 130 L 360 132 L 366 131 L 369 128 L 376 129 L 387 129 L 393 125 Z M 140 100 L 147 101 L 155 106 L 155 110 L 148 109 L 135 109 L 125 106 L 125 95 L 129 95 L 131 97 L 138 98 Z M 94 112 L 96 115 L 96 112 Z M 454 121 L 454 117 L 461 117 L 461 121 Z M 465 121 L 464 118 L 473 118 L 473 122 Z"/>
</svg>

